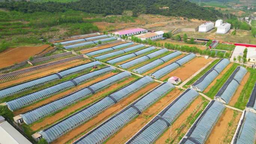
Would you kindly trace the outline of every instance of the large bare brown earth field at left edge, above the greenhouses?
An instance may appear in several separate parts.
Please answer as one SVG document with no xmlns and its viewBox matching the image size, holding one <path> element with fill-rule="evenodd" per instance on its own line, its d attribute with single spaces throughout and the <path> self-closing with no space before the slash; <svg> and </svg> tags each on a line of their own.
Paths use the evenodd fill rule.
<svg viewBox="0 0 256 144">
<path fill-rule="evenodd" d="M 9 48 L 0 53 L 0 68 L 26 61 L 30 56 L 47 53 L 52 49 L 50 45 Z"/>
</svg>

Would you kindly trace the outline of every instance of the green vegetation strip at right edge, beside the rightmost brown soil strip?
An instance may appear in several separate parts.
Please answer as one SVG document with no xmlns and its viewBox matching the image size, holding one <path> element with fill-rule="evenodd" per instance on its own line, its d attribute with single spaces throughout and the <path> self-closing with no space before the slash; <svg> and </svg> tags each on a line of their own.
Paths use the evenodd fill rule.
<svg viewBox="0 0 256 144">
<path fill-rule="evenodd" d="M 244 85 L 244 88 L 240 93 L 237 102 L 234 105 L 235 108 L 239 108 L 240 110 L 243 110 L 245 108 L 252 93 L 253 87 L 256 83 L 256 70 L 254 70 L 253 68 L 247 68 L 247 71 L 250 73 L 250 77 Z"/>
</svg>

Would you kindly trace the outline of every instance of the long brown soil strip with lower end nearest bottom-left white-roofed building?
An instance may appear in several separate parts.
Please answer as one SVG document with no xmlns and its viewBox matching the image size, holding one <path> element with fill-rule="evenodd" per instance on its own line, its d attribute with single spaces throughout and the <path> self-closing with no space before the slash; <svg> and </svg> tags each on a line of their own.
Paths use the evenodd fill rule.
<svg viewBox="0 0 256 144">
<path fill-rule="evenodd" d="M 125 80 L 124 82 L 121 83 L 115 83 L 114 85 L 111 85 L 109 88 L 104 89 L 100 92 L 97 92 L 96 94 L 92 95 L 90 98 L 87 98 L 83 101 L 77 102 L 76 104 L 73 104 L 71 106 L 69 106 L 68 108 L 60 111 L 59 113 L 55 114 L 54 116 L 51 117 L 46 117 L 45 119 L 43 119 L 42 121 L 35 123 L 34 125 L 32 125 L 30 128 L 35 131 L 38 129 L 42 129 L 45 126 L 51 125 L 52 123 L 56 122 L 59 119 L 62 119 L 64 117 L 67 117 L 68 114 L 72 113 L 73 111 L 76 111 L 82 107 L 85 107 L 86 105 L 91 104 L 94 101 L 97 101 L 98 99 L 101 98 L 102 95 L 104 95 L 105 93 L 118 89 L 119 86 L 127 84 L 129 82 L 131 82 L 132 80 L 134 80 L 134 77 L 130 77 L 127 80 Z"/>
</svg>

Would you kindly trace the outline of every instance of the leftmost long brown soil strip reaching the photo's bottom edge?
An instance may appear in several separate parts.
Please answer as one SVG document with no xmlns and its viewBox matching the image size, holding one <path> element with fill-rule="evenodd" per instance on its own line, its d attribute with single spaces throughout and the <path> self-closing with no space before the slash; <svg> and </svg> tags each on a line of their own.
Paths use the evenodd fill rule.
<svg viewBox="0 0 256 144">
<path fill-rule="evenodd" d="M 53 142 L 53 144 L 65 144 L 67 141 L 70 141 L 74 138 L 78 138 L 81 135 L 85 134 L 85 132 L 90 131 L 98 124 L 102 123 L 106 119 L 108 119 L 113 114 L 117 113 L 118 111 L 122 110 L 124 107 L 126 107 L 128 104 L 130 104 L 132 101 L 135 101 L 137 98 L 139 98 L 141 95 L 145 94 L 146 92 L 150 91 L 151 89 L 155 88 L 159 83 L 153 82 L 146 87 L 140 89 L 139 91 L 135 92 L 134 94 L 128 96 L 125 99 L 122 99 L 117 104 L 113 105 L 110 108 L 107 108 L 107 110 L 103 111 L 102 113 L 98 114 L 93 119 L 86 122 L 84 125 L 79 126 L 78 128 L 72 130 L 71 132 L 68 132 L 64 136 L 58 138 L 56 141 Z"/>
</svg>

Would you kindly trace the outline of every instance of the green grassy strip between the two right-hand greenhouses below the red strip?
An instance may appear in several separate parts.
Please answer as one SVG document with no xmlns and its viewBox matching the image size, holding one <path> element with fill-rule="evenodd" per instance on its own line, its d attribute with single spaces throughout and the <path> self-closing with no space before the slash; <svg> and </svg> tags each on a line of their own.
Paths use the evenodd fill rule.
<svg viewBox="0 0 256 144">
<path fill-rule="evenodd" d="M 229 76 L 231 76 L 231 74 L 235 71 L 235 69 L 239 66 L 239 64 L 234 63 L 228 71 L 226 71 L 225 74 L 223 74 L 223 76 L 220 79 L 217 79 L 216 83 L 214 84 L 214 86 L 211 87 L 211 89 L 206 93 L 206 95 L 208 97 L 210 97 L 211 99 L 214 98 L 214 96 L 217 94 L 217 92 L 219 91 L 219 89 L 224 85 L 224 83 L 226 82 L 226 80 L 228 80 Z"/>
</svg>

